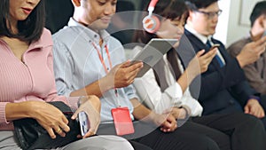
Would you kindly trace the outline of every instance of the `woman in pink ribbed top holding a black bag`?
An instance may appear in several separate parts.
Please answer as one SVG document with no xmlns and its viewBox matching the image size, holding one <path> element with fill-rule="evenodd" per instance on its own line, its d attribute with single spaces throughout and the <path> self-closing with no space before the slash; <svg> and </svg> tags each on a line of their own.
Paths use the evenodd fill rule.
<svg viewBox="0 0 266 150">
<path fill-rule="evenodd" d="M 63 101 L 76 106 L 77 99 L 66 100 L 57 95 L 51 33 L 43 28 L 44 1 L 1 0 L 0 8 L 0 149 L 20 149 L 12 121 L 21 118 L 34 118 L 51 138 L 66 136 L 71 129 L 65 115 L 46 102 Z M 133 149 L 123 138 L 88 138 L 95 134 L 100 121 L 97 97 L 84 100 L 73 119 L 81 111 L 90 116 L 90 130 L 83 137 L 86 139 L 78 141 L 81 146 L 74 142 L 59 149 Z"/>
</svg>

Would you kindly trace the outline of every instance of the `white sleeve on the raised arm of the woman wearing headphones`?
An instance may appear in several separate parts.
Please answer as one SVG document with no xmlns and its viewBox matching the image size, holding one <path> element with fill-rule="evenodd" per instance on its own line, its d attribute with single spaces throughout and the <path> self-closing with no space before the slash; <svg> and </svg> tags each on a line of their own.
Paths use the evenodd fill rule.
<svg viewBox="0 0 266 150">
<path fill-rule="evenodd" d="M 180 85 L 175 83 L 165 91 L 160 91 L 153 69 L 150 69 L 142 78 L 137 78 L 134 86 L 140 99 L 156 113 L 161 114 L 170 107 L 181 106 L 183 92 Z"/>
</svg>

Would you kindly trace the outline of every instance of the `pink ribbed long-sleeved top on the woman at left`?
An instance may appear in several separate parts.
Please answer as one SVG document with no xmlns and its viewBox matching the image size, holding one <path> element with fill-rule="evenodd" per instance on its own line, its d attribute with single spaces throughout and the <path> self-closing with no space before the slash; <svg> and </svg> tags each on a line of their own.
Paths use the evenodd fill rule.
<svg viewBox="0 0 266 150">
<path fill-rule="evenodd" d="M 0 39 L 0 130 L 12 130 L 5 118 L 5 105 L 27 100 L 64 101 L 57 95 L 53 75 L 52 39 L 49 30 L 31 43 L 20 61 Z"/>
</svg>

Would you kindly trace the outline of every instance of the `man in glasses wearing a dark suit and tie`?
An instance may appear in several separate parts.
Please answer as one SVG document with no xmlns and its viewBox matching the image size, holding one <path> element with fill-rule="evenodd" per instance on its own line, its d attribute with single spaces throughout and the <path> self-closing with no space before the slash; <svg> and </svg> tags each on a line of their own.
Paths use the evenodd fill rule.
<svg viewBox="0 0 266 150">
<path fill-rule="evenodd" d="M 265 51 L 266 37 L 247 43 L 235 59 L 231 58 L 223 43 L 213 38 L 218 16 L 222 12 L 217 1 L 186 0 L 190 11 L 184 35 L 194 51 L 209 50 L 219 44 L 215 58 L 200 76 L 200 91 L 195 89 L 197 82 L 192 82 L 192 96 L 199 97 L 203 115 L 245 112 L 262 118 L 265 127 L 265 112 L 259 97 L 254 96 L 254 90 L 246 82 L 242 67 L 253 63 Z M 177 52 L 182 51 L 185 44 L 180 42 Z M 186 66 L 187 62 L 183 63 Z"/>
</svg>

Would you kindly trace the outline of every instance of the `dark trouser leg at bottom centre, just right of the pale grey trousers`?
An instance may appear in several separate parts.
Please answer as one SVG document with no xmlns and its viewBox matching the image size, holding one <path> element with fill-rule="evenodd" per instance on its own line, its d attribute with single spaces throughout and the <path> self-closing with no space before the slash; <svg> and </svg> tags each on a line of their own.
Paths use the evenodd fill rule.
<svg viewBox="0 0 266 150">
<path fill-rule="evenodd" d="M 136 140 L 154 150 L 219 150 L 213 139 L 187 130 L 164 133 L 157 129 Z"/>
</svg>

